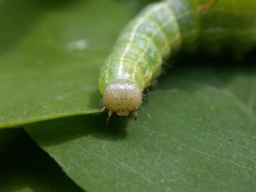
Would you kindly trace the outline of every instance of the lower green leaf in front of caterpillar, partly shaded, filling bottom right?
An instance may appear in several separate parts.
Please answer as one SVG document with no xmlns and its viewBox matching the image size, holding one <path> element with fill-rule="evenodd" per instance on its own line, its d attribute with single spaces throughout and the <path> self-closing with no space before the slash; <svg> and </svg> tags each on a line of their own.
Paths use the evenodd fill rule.
<svg viewBox="0 0 256 192">
<path fill-rule="evenodd" d="M 206 63 L 204 63 L 206 65 Z M 207 64 L 209 66 L 209 64 Z M 253 191 L 255 68 L 175 67 L 139 121 L 75 116 L 26 126 L 86 191 Z"/>
</svg>

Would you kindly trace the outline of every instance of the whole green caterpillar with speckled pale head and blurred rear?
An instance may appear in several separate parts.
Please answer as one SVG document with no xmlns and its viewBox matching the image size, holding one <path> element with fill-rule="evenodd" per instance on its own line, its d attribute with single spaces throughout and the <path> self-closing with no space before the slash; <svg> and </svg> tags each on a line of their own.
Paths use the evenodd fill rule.
<svg viewBox="0 0 256 192">
<path fill-rule="evenodd" d="M 243 54 L 255 46 L 256 1 L 217 1 L 156 2 L 124 27 L 100 70 L 102 110 L 109 117 L 136 116 L 143 90 L 160 75 L 163 61 L 182 49 L 201 46 L 218 54 L 229 46 Z"/>
</svg>

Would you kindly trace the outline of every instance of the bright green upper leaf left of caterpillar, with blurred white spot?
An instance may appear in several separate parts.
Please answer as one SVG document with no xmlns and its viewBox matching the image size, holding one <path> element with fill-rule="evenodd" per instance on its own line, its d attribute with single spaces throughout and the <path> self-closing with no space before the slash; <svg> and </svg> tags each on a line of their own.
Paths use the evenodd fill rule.
<svg viewBox="0 0 256 192">
<path fill-rule="evenodd" d="M 1 1 L 0 127 L 99 112 L 100 66 L 148 2 Z"/>
</svg>

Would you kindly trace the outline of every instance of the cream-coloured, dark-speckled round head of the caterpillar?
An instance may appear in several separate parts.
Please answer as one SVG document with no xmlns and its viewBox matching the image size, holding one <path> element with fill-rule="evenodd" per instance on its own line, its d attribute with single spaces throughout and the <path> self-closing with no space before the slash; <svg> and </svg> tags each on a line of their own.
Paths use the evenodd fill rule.
<svg viewBox="0 0 256 192">
<path fill-rule="evenodd" d="M 103 104 L 108 113 L 116 113 L 118 116 L 128 116 L 140 108 L 142 94 L 137 84 L 111 83 L 103 93 Z"/>
</svg>

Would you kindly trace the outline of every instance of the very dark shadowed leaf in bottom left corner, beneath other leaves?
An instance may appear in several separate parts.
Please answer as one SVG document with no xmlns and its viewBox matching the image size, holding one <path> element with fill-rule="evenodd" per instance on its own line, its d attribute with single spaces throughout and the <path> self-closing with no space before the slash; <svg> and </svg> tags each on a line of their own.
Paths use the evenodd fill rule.
<svg viewBox="0 0 256 192">
<path fill-rule="evenodd" d="M 83 191 L 23 129 L 0 130 L 1 191 Z"/>
</svg>

